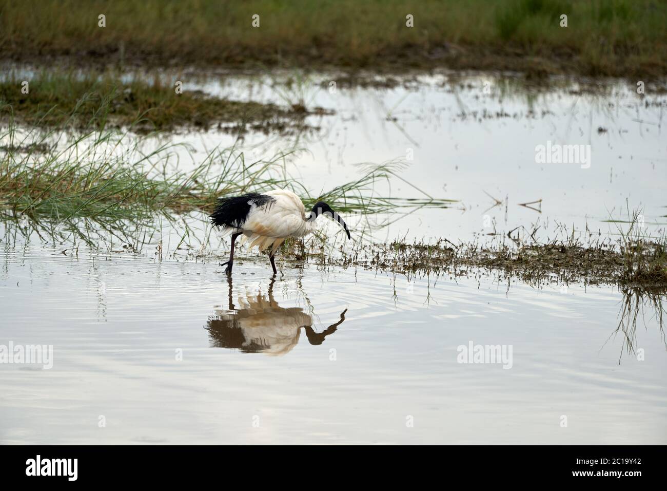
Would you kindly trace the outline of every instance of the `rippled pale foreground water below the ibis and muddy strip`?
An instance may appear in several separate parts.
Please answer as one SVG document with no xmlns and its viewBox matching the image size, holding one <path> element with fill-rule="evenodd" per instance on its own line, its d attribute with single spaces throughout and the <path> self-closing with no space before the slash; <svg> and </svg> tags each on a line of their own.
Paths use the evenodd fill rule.
<svg viewBox="0 0 667 491">
<path fill-rule="evenodd" d="M 230 284 L 212 263 L 82 252 L 0 255 L 0 342 L 53 345 L 51 369 L 1 366 L 3 444 L 666 440 L 664 339 L 638 327 L 638 361 L 610 338 L 614 289 L 271 282 L 249 261 Z M 470 342 L 511 345 L 511 367 L 458 363 Z"/>
</svg>

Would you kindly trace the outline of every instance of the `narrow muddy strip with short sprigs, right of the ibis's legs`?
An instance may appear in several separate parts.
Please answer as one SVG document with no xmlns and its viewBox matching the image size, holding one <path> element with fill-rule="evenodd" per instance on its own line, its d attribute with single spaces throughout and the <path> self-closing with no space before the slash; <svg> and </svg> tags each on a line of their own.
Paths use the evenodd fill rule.
<svg viewBox="0 0 667 491">
<path fill-rule="evenodd" d="M 480 271 L 498 281 L 519 279 L 533 286 L 618 285 L 652 292 L 667 291 L 667 242 L 639 238 L 583 244 L 576 240 L 548 244 L 434 244 L 394 241 L 358 244 L 324 252 L 287 243 L 283 255 L 298 265 L 361 268 L 408 277 L 476 277 Z"/>
</svg>

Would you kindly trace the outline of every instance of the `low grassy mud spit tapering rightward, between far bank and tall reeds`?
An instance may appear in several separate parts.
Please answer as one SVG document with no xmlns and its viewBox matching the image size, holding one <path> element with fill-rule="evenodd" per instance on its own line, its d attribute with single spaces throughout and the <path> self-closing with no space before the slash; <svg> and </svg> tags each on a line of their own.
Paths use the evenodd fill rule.
<svg viewBox="0 0 667 491">
<path fill-rule="evenodd" d="M 15 116 L 28 124 L 71 124 L 79 128 L 132 125 L 135 131 L 208 128 L 226 124 L 235 131 L 246 125 L 284 130 L 303 126 L 307 112 L 273 104 L 237 102 L 188 90 L 176 94 L 175 81 L 155 75 L 152 82 L 123 80 L 106 73 L 43 72 L 29 77 L 29 92 L 21 79 L 0 81 L 0 117 Z"/>
</svg>

